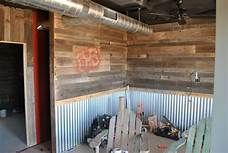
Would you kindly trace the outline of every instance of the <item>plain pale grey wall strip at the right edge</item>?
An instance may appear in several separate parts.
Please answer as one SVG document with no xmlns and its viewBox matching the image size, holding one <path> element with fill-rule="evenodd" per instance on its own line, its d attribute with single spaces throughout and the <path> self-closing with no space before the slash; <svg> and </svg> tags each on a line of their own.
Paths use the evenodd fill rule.
<svg viewBox="0 0 228 153">
<path fill-rule="evenodd" d="M 228 0 L 217 0 L 212 153 L 228 153 Z"/>
</svg>

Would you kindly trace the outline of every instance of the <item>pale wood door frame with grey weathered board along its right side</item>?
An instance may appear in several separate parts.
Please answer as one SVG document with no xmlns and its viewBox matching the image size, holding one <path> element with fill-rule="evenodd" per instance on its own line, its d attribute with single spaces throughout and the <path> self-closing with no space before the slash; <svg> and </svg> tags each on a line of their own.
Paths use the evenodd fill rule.
<svg viewBox="0 0 228 153">
<path fill-rule="evenodd" d="M 23 73 L 24 73 L 24 104 L 25 104 L 25 130 L 28 147 L 36 145 L 36 114 L 34 98 L 34 71 L 33 66 L 27 63 L 27 44 L 22 42 L 0 41 L 0 43 L 18 44 L 23 46 Z"/>
</svg>

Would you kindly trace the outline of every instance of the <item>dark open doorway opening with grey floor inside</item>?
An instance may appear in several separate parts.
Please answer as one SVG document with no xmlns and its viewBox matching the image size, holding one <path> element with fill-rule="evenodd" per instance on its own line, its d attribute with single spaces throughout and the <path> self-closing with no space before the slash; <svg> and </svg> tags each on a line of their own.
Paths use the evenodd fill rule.
<svg viewBox="0 0 228 153">
<path fill-rule="evenodd" d="M 0 43 L 0 153 L 27 146 L 23 59 L 23 44 Z"/>
</svg>

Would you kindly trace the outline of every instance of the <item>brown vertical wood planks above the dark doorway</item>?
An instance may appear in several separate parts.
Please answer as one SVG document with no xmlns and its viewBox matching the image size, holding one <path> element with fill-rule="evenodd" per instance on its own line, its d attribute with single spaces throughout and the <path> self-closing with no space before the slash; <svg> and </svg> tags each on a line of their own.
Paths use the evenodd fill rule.
<svg viewBox="0 0 228 153">
<path fill-rule="evenodd" d="M 32 11 L 0 5 L 0 41 L 26 43 L 27 64 L 33 66 Z"/>
</svg>

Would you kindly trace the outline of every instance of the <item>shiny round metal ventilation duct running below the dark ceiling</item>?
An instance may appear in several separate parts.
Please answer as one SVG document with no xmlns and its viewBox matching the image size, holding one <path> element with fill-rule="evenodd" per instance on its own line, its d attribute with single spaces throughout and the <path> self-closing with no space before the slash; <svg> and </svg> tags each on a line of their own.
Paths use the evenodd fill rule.
<svg viewBox="0 0 228 153">
<path fill-rule="evenodd" d="M 100 23 L 128 32 L 153 33 L 150 25 L 92 2 L 91 0 L 4 0 L 19 5 L 57 12 L 69 17 L 91 17 Z"/>
</svg>

